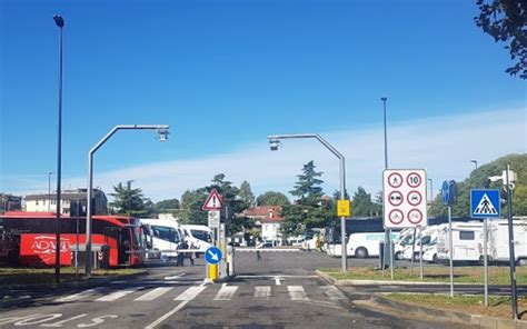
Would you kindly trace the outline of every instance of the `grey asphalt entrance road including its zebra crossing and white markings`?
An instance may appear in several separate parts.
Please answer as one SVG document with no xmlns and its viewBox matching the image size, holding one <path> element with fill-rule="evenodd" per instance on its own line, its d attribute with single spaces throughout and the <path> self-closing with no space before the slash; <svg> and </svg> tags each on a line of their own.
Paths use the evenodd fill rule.
<svg viewBox="0 0 527 329">
<path fill-rule="evenodd" d="M 314 276 L 338 259 L 316 252 L 238 252 L 237 277 L 205 285 L 193 267 L 152 263 L 149 275 L 92 289 L 34 289 L 34 303 L 1 310 L 0 328 L 464 328 L 402 319 L 354 301 Z M 29 290 L 27 292 L 30 292 Z M 40 293 L 40 295 L 39 295 Z"/>
</svg>

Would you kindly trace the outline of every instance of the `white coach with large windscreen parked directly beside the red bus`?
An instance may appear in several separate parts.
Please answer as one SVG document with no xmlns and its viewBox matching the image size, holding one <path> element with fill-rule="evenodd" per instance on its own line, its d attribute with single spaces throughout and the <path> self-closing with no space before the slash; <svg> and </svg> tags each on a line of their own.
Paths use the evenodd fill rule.
<svg viewBox="0 0 527 329">
<path fill-rule="evenodd" d="M 140 219 L 147 228 L 150 248 L 149 258 L 175 258 L 178 256 L 178 246 L 183 239 L 183 232 L 177 221 L 172 219 Z"/>
</svg>

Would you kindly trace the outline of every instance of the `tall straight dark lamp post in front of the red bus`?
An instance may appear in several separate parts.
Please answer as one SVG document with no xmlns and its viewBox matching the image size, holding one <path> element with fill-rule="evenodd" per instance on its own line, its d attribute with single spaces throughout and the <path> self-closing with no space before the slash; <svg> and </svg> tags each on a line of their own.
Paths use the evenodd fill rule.
<svg viewBox="0 0 527 329">
<path fill-rule="evenodd" d="M 62 179 L 62 28 L 64 20 L 60 14 L 53 16 L 54 23 L 59 28 L 59 131 L 57 143 L 57 223 L 56 223 L 56 245 L 54 245 L 54 281 L 60 282 L 60 185 Z"/>
</svg>

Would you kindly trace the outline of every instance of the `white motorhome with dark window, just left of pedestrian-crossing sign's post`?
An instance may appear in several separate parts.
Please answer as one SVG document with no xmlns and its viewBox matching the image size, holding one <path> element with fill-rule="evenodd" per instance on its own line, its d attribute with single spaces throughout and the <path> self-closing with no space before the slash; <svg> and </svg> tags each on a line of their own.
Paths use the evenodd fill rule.
<svg viewBox="0 0 527 329">
<path fill-rule="evenodd" d="M 483 260 L 483 223 L 453 222 L 453 260 L 481 261 Z M 437 260 L 449 260 L 449 228 L 445 226 L 437 237 Z"/>
</svg>

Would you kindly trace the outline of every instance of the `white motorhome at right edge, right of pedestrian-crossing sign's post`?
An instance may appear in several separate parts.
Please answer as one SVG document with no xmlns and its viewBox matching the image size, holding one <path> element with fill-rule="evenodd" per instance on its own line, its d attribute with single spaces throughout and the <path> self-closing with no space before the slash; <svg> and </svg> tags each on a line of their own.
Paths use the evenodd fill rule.
<svg viewBox="0 0 527 329">
<path fill-rule="evenodd" d="M 494 261 L 509 261 L 509 231 L 506 219 L 488 221 L 488 257 Z M 514 220 L 514 250 L 518 265 L 527 265 L 527 220 Z"/>
</svg>

